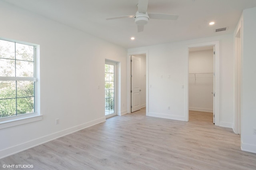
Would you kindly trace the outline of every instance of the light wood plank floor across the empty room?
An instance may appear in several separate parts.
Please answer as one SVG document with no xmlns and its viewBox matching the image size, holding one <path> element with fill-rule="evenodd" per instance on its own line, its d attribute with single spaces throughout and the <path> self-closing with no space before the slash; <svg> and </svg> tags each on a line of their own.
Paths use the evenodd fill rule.
<svg viewBox="0 0 256 170">
<path fill-rule="evenodd" d="M 209 113 L 190 121 L 146 117 L 145 108 L 0 160 L 36 170 L 255 170 L 240 135 L 216 127 Z M 32 168 L 30 168 L 32 169 Z"/>
</svg>

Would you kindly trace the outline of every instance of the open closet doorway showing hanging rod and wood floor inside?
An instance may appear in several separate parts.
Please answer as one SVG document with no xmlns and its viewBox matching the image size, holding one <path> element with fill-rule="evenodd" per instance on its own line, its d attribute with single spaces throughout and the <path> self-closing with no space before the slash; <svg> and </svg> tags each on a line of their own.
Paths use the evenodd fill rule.
<svg viewBox="0 0 256 170">
<path fill-rule="evenodd" d="M 188 95 L 189 115 L 215 123 L 215 48 L 214 46 L 189 48 Z"/>
</svg>

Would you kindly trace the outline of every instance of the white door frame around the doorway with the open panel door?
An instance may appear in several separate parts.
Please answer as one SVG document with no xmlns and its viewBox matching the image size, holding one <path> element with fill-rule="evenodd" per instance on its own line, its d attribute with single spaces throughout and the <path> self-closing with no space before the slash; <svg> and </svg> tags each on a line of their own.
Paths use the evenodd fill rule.
<svg viewBox="0 0 256 170">
<path fill-rule="evenodd" d="M 149 108 L 148 108 L 148 51 L 138 51 L 138 52 L 128 52 L 127 55 L 127 113 L 131 113 L 131 56 L 132 55 L 140 55 L 146 54 L 146 115 L 148 116 Z"/>
</svg>

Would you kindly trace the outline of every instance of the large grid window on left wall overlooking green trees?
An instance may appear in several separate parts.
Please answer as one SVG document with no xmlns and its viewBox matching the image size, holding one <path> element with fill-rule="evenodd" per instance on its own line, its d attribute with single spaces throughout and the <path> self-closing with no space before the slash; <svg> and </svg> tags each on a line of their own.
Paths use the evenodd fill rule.
<svg viewBox="0 0 256 170">
<path fill-rule="evenodd" d="M 0 119 L 35 113 L 35 91 L 36 45 L 0 39 Z"/>
</svg>

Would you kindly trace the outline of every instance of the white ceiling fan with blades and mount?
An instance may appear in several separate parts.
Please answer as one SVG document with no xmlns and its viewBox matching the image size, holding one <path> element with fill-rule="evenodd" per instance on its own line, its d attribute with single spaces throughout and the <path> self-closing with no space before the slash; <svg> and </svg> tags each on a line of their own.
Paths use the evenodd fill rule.
<svg viewBox="0 0 256 170">
<path fill-rule="evenodd" d="M 135 15 L 126 16 L 116 16 L 112 18 L 106 18 L 106 20 L 115 20 L 120 18 L 134 18 L 135 24 L 138 26 L 138 32 L 144 30 L 144 25 L 146 25 L 149 19 L 159 19 L 159 20 L 177 20 L 178 15 L 172 14 L 159 14 L 159 13 L 148 13 L 148 0 L 138 0 L 137 4 L 138 11 Z"/>
</svg>

